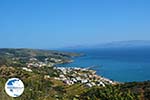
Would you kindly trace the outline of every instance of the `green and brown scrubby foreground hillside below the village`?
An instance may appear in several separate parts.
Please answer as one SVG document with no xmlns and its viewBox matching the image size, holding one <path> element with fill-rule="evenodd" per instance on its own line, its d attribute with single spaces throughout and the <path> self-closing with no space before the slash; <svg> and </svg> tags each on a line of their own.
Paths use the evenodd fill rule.
<svg viewBox="0 0 150 100">
<path fill-rule="evenodd" d="M 25 91 L 21 97 L 13 100 L 149 100 L 150 81 L 140 83 L 125 83 L 120 85 L 108 85 L 105 87 L 85 87 L 76 83 L 66 85 L 62 81 L 54 79 L 59 72 L 54 69 L 39 69 L 50 74 L 50 78 L 44 73 L 26 72 L 20 68 L 0 67 L 0 97 L 1 100 L 12 100 L 4 91 L 4 84 L 8 78 L 19 77 L 25 84 Z M 54 74 L 55 72 L 55 74 Z M 53 74 L 52 74 L 53 73 Z"/>
</svg>

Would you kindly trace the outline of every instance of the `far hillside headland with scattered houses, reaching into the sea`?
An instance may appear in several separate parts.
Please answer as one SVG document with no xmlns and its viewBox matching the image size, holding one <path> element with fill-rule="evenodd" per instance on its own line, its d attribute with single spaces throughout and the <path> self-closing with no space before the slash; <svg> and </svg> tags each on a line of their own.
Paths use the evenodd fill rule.
<svg viewBox="0 0 150 100">
<path fill-rule="evenodd" d="M 53 66 L 71 62 L 76 53 L 40 49 L 0 49 L 0 65 L 16 67 Z"/>
</svg>

